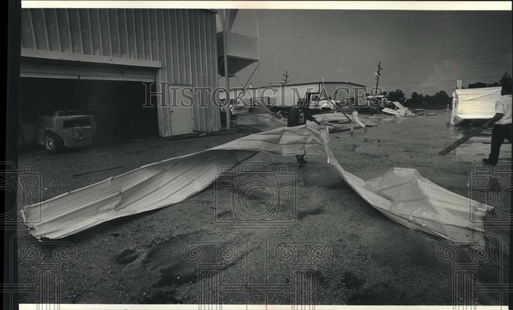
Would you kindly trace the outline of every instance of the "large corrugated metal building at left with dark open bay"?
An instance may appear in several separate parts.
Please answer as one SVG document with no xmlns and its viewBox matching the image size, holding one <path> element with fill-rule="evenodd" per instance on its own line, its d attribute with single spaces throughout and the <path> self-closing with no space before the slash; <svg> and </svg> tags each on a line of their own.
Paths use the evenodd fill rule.
<svg viewBox="0 0 513 310">
<path fill-rule="evenodd" d="M 155 118 L 162 137 L 219 130 L 220 109 L 208 92 L 192 94 L 192 106 L 173 106 L 180 96 L 173 98 L 167 87 L 158 94 L 163 83 L 218 86 L 215 14 L 23 9 L 21 110 L 35 110 L 35 115 L 82 108 L 97 116 L 98 129 L 104 123 L 105 132 L 144 127 L 142 121 L 155 125 Z"/>
</svg>

